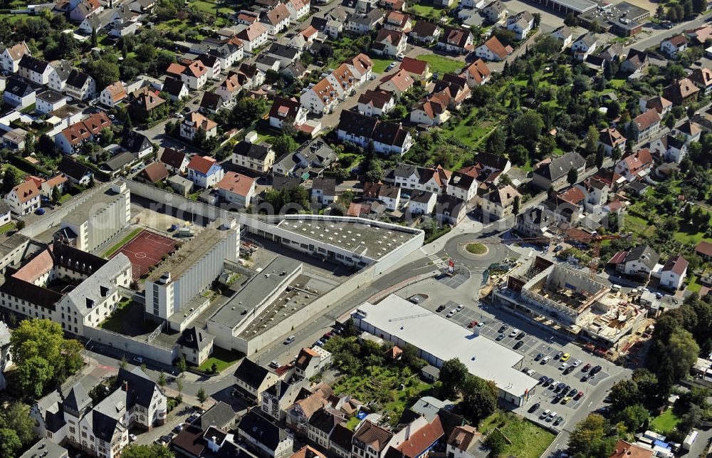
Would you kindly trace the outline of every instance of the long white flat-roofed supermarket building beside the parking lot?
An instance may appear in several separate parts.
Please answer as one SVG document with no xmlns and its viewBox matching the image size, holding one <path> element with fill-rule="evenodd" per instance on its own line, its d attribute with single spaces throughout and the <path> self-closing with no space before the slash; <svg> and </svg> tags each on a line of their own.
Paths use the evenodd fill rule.
<svg viewBox="0 0 712 458">
<path fill-rule="evenodd" d="M 536 389 L 538 380 L 521 372 L 523 355 L 394 294 L 363 303 L 352 318 L 363 331 L 399 347 L 413 345 L 436 368 L 458 358 L 471 374 L 492 380 L 513 405 L 523 405 Z"/>
</svg>

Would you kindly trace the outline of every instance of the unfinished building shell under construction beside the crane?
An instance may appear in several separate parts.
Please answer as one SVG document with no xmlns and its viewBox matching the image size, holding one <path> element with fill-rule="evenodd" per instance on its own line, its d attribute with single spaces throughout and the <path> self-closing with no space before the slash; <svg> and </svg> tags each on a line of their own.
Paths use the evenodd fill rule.
<svg viewBox="0 0 712 458">
<path fill-rule="evenodd" d="M 572 269 L 535 256 L 525 259 L 492 291 L 493 303 L 508 306 L 568 335 L 610 347 L 644 323 L 646 312 L 622 293 Z"/>
</svg>

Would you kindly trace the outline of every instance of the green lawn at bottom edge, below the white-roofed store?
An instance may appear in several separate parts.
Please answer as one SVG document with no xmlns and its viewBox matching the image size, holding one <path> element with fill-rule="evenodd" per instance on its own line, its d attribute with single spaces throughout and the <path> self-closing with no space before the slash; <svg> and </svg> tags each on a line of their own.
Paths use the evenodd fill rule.
<svg viewBox="0 0 712 458">
<path fill-rule="evenodd" d="M 538 458 L 549 448 L 555 435 L 510 412 L 495 412 L 477 428 L 486 434 L 498 427 L 511 444 L 502 451 L 503 457 Z"/>
</svg>

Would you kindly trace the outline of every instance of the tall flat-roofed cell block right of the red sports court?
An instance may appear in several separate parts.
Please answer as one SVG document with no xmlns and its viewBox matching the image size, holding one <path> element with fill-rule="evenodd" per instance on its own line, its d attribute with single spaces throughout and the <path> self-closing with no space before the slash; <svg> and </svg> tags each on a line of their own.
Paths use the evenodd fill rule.
<svg viewBox="0 0 712 458">
<path fill-rule="evenodd" d="M 217 219 L 174 251 L 146 279 L 146 313 L 168 319 L 238 261 L 239 224 Z"/>
</svg>

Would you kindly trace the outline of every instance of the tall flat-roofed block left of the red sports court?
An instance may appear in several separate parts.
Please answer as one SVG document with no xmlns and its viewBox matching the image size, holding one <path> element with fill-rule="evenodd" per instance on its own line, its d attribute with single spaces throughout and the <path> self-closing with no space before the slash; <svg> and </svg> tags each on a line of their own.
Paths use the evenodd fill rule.
<svg viewBox="0 0 712 458">
<path fill-rule="evenodd" d="M 60 227 L 63 234 L 73 237 L 78 249 L 94 251 L 127 227 L 130 220 L 131 192 L 125 183 L 113 182 L 68 212 Z"/>
</svg>

